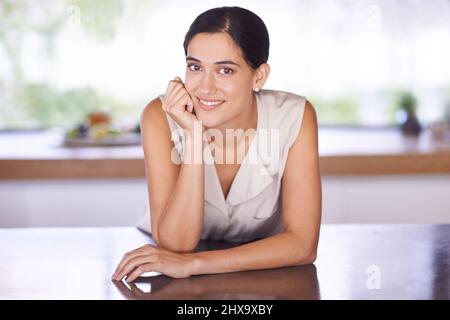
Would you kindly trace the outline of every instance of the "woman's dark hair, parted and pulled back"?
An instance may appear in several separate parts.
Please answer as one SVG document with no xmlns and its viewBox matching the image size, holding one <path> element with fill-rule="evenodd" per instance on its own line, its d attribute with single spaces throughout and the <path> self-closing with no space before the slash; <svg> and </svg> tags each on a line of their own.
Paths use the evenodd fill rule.
<svg viewBox="0 0 450 320">
<path fill-rule="evenodd" d="M 241 48 L 243 58 L 253 69 L 269 59 L 269 33 L 260 17 L 240 7 L 220 7 L 200 14 L 184 38 L 184 54 L 192 38 L 199 33 L 226 32 Z"/>
</svg>

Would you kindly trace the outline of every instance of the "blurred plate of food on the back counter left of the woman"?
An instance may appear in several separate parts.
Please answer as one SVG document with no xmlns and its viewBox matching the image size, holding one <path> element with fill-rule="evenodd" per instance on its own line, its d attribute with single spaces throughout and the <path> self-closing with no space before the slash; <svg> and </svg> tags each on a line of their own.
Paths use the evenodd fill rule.
<svg viewBox="0 0 450 320">
<path fill-rule="evenodd" d="M 141 143 L 139 124 L 128 127 L 113 125 L 111 116 L 102 111 L 91 112 L 85 121 L 68 130 L 66 147 L 127 146 Z"/>
</svg>

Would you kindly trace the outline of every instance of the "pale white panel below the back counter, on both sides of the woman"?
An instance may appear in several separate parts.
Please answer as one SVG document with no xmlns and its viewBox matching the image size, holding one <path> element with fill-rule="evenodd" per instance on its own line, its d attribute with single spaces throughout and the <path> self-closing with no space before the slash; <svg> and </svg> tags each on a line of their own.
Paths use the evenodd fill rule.
<svg viewBox="0 0 450 320">
<path fill-rule="evenodd" d="M 450 223 L 450 175 L 322 177 L 324 223 Z M 130 226 L 144 179 L 0 182 L 0 227 Z"/>
</svg>

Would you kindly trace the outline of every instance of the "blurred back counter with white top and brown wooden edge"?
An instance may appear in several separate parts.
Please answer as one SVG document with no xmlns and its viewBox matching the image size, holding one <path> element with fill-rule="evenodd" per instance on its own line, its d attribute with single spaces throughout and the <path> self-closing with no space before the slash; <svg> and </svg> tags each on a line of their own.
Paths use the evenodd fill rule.
<svg viewBox="0 0 450 320">
<path fill-rule="evenodd" d="M 428 132 L 320 128 L 322 175 L 448 174 L 450 142 Z M 0 180 L 144 178 L 141 146 L 63 147 L 60 132 L 0 133 Z"/>
</svg>

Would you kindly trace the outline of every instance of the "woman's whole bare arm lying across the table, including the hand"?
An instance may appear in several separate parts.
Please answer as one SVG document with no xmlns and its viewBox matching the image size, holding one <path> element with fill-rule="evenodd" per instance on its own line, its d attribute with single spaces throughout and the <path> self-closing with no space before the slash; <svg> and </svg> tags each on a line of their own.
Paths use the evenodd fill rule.
<svg viewBox="0 0 450 320">
<path fill-rule="evenodd" d="M 121 280 L 127 275 L 127 281 L 133 281 L 147 271 L 184 278 L 310 264 L 317 254 L 321 207 L 317 120 L 307 103 L 282 181 L 283 233 L 231 249 L 196 253 L 174 253 L 144 245 L 124 256 L 113 278 Z M 178 238 L 178 234 L 173 236 Z"/>
</svg>

